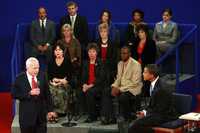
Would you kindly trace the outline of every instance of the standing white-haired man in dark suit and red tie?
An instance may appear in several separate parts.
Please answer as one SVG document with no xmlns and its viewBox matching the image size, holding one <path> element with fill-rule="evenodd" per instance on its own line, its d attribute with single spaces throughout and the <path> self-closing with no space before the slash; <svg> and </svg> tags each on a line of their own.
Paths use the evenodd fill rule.
<svg viewBox="0 0 200 133">
<path fill-rule="evenodd" d="M 11 92 L 12 96 L 20 101 L 21 133 L 46 133 L 46 119 L 52 119 L 55 113 L 52 112 L 47 79 L 44 74 L 39 73 L 39 62 L 36 58 L 27 59 L 26 72 L 17 76 Z"/>
</svg>

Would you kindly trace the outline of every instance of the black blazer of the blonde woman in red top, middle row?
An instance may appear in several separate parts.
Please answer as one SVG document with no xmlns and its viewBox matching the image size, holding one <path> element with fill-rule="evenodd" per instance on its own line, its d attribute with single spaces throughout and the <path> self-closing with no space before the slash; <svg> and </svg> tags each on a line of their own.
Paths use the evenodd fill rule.
<svg viewBox="0 0 200 133">
<path fill-rule="evenodd" d="M 101 41 L 97 41 L 99 47 L 98 57 L 101 59 Z M 117 63 L 118 63 L 118 46 L 115 43 L 108 41 L 106 61 L 103 63 L 105 71 L 107 84 L 113 83 L 114 77 L 117 74 Z"/>
</svg>

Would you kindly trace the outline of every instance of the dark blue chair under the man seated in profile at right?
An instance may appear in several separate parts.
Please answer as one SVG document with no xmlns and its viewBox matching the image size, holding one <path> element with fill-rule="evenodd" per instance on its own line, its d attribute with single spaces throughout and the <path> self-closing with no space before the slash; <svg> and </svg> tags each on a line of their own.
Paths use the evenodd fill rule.
<svg viewBox="0 0 200 133">
<path fill-rule="evenodd" d="M 175 109 L 182 115 L 189 113 L 191 110 L 192 96 L 180 93 L 173 93 L 175 99 Z M 182 133 L 186 123 L 183 120 L 177 119 L 154 127 L 155 133 Z"/>
</svg>

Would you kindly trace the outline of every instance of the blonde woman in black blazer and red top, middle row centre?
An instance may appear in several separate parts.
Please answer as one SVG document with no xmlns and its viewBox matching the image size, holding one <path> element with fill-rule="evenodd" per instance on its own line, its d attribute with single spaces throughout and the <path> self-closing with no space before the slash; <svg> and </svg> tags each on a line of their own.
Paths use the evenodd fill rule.
<svg viewBox="0 0 200 133">
<path fill-rule="evenodd" d="M 99 48 L 98 57 L 102 60 L 106 71 L 106 85 L 110 86 L 114 82 L 117 72 L 118 46 L 109 38 L 109 26 L 106 23 L 98 27 L 100 38 L 97 41 Z"/>
</svg>

